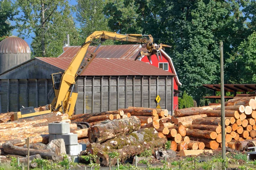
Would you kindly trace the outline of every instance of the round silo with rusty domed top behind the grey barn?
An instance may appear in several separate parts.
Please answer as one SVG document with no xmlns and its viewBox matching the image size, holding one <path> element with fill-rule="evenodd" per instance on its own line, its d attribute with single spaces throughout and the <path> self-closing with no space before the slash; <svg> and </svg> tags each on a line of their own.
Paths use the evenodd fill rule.
<svg viewBox="0 0 256 170">
<path fill-rule="evenodd" d="M 30 59 L 30 48 L 25 40 L 11 36 L 0 42 L 0 73 Z"/>
</svg>

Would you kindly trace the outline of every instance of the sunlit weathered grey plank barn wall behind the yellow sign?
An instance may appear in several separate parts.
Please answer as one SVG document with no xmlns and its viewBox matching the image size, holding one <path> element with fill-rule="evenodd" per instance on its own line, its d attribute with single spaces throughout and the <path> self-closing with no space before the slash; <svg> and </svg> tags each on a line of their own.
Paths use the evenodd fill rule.
<svg viewBox="0 0 256 170">
<path fill-rule="evenodd" d="M 172 110 L 172 77 L 79 77 L 75 113 L 114 111 L 129 106 Z"/>
</svg>

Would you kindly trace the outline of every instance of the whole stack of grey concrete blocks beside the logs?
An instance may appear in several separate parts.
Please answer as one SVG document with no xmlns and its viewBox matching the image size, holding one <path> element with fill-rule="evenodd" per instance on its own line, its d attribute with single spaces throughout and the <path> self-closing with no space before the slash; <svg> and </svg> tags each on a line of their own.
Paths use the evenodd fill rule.
<svg viewBox="0 0 256 170">
<path fill-rule="evenodd" d="M 70 133 L 70 124 L 49 123 L 49 142 L 54 139 L 64 139 L 66 152 L 71 156 L 78 156 L 82 151 L 82 145 L 78 144 L 77 134 Z"/>
</svg>

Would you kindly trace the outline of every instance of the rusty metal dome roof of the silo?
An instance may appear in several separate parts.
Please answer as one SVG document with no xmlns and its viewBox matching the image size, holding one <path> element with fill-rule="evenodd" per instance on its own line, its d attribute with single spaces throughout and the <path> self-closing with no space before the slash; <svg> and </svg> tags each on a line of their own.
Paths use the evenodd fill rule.
<svg viewBox="0 0 256 170">
<path fill-rule="evenodd" d="M 11 36 L 0 42 L 0 54 L 30 53 L 29 45 L 25 40 Z"/>
</svg>

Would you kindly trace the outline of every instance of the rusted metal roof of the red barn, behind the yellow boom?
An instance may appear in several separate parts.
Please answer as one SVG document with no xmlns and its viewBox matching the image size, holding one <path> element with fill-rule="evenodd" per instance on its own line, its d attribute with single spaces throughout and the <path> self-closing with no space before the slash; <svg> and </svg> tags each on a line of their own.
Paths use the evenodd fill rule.
<svg viewBox="0 0 256 170">
<path fill-rule="evenodd" d="M 81 46 L 65 46 L 64 52 L 58 58 L 73 58 L 80 48 Z M 88 51 L 93 52 L 95 49 L 95 46 L 89 46 Z M 101 45 L 96 51 L 96 58 L 135 59 L 141 50 L 147 49 L 138 44 Z"/>
</svg>

